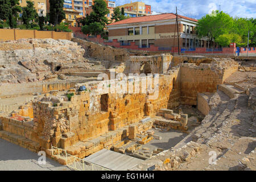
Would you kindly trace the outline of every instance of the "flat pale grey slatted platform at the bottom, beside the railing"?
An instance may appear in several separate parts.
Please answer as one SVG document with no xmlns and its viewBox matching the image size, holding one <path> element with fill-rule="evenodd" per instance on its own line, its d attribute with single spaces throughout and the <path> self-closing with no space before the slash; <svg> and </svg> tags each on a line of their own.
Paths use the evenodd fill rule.
<svg viewBox="0 0 256 182">
<path fill-rule="evenodd" d="M 137 166 L 137 164 L 144 161 L 106 149 L 102 149 L 101 151 L 84 158 L 84 160 L 113 171 L 127 171 L 128 169 L 133 168 Z"/>
</svg>

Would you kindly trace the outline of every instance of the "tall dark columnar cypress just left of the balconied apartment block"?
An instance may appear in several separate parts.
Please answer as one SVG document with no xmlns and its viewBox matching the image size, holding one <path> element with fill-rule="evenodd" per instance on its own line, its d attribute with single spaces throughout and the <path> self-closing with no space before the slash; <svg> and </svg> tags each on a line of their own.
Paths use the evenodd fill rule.
<svg viewBox="0 0 256 182">
<path fill-rule="evenodd" d="M 64 0 L 49 0 L 49 23 L 56 26 L 65 19 L 63 6 Z"/>
</svg>

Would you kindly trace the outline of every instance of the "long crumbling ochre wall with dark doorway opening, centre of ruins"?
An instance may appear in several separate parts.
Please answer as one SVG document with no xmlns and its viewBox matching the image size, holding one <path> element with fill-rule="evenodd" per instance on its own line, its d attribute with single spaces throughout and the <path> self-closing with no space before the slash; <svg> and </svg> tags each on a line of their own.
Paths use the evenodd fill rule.
<svg viewBox="0 0 256 182">
<path fill-rule="evenodd" d="M 102 85 L 102 81 L 77 84 L 77 89 L 70 90 L 74 93 L 70 101 L 61 96 L 58 99 L 46 97 L 34 103 L 34 129 L 48 142 L 69 146 L 138 122 L 146 115 L 154 115 L 159 109 L 180 104 L 179 89 L 173 89 L 170 83 L 172 78 L 179 80 L 178 73 L 179 69 L 175 69 L 169 75 L 159 77 L 159 94 L 155 100 L 149 100 L 147 93 L 99 93 L 100 86 L 109 86 Z M 115 81 L 118 84 L 119 80 Z M 87 90 L 79 91 L 80 85 L 85 85 Z M 67 139 L 64 136 L 69 132 L 72 136 Z"/>
</svg>

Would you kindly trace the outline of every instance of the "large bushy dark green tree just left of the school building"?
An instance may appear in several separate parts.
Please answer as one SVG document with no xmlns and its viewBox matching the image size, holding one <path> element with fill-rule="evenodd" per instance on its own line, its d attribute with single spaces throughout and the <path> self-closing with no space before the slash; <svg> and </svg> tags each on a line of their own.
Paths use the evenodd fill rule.
<svg viewBox="0 0 256 182">
<path fill-rule="evenodd" d="M 106 28 L 105 25 L 110 23 L 106 17 L 109 14 L 109 9 L 104 0 L 95 0 L 92 10 L 90 15 L 81 20 L 82 30 L 84 30 L 82 32 L 84 34 L 102 35 Z"/>
</svg>

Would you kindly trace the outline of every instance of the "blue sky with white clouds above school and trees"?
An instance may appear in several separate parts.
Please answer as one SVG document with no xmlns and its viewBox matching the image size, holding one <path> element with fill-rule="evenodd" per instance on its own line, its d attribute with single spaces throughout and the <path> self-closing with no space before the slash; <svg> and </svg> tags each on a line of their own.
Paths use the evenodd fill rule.
<svg viewBox="0 0 256 182">
<path fill-rule="evenodd" d="M 131 0 L 113 1 L 116 5 L 131 2 Z M 133 0 L 133 2 L 136 1 Z M 233 17 L 256 18 L 256 0 L 142 0 L 142 2 L 151 5 L 152 11 L 159 13 L 175 13 L 175 6 L 177 6 L 178 14 L 197 19 L 213 9 L 221 9 Z"/>
</svg>

